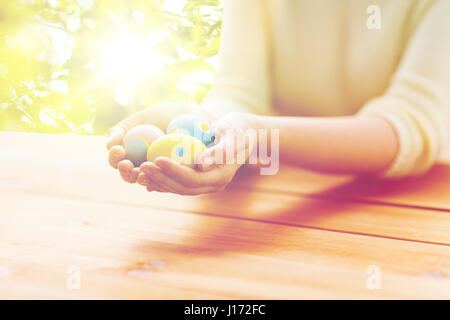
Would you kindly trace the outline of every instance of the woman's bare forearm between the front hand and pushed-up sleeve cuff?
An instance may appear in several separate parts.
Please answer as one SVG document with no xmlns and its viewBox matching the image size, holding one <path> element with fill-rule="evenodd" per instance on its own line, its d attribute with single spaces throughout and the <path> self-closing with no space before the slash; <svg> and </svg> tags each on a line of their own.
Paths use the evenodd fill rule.
<svg viewBox="0 0 450 320">
<path fill-rule="evenodd" d="M 280 162 L 310 170 L 375 174 L 390 166 L 398 150 L 396 133 L 382 118 L 256 116 L 256 123 L 269 132 L 279 129 Z"/>
</svg>

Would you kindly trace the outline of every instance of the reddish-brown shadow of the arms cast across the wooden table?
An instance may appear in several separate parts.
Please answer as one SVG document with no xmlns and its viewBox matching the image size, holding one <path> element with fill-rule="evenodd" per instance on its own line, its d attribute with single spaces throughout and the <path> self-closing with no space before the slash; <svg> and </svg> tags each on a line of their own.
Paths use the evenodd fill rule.
<svg viewBox="0 0 450 320">
<path fill-rule="evenodd" d="M 244 178 L 248 185 L 259 179 L 257 175 L 245 175 Z M 195 237 L 187 239 L 182 247 L 170 246 L 165 250 L 177 255 L 192 256 L 217 256 L 227 252 L 256 253 L 276 249 L 277 243 L 280 245 L 283 241 L 286 244 L 293 232 L 298 234 L 296 246 L 301 246 L 304 229 L 298 227 L 344 232 L 317 227 L 317 222 L 357 211 L 360 206 L 367 205 L 368 200 L 412 203 L 412 207 L 422 204 L 450 211 L 448 181 L 450 166 L 437 166 L 425 176 L 398 181 L 355 179 L 314 194 L 298 194 L 292 201 L 283 203 L 274 210 L 262 210 L 263 212 L 252 209 L 257 201 L 252 196 L 254 193 L 248 192 L 242 185 L 233 185 L 230 188 L 232 192 L 203 197 L 198 208 L 205 213 L 217 212 L 217 208 L 221 207 L 236 208 L 236 212 L 241 214 L 227 214 L 218 224 L 193 226 Z M 283 191 L 274 192 L 276 194 Z M 267 197 L 273 195 L 266 187 L 262 193 Z M 292 241 L 292 238 L 289 239 Z"/>
</svg>

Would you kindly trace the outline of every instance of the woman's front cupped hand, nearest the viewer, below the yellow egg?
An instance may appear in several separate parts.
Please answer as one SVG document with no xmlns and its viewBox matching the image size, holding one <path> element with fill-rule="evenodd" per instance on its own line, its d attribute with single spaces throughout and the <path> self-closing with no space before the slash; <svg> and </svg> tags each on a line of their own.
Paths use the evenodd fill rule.
<svg viewBox="0 0 450 320">
<path fill-rule="evenodd" d="M 140 166 L 137 181 L 148 191 L 198 195 L 222 191 L 256 148 L 256 117 L 229 113 L 212 124 L 215 145 L 200 157 L 195 168 L 161 157 Z M 251 134 L 251 130 L 255 133 Z M 255 162 L 256 158 L 253 159 Z"/>
</svg>

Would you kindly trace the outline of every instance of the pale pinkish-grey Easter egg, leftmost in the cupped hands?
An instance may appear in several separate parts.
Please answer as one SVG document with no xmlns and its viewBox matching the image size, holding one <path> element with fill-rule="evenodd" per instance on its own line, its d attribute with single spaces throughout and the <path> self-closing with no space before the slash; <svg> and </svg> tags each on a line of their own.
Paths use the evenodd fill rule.
<svg viewBox="0 0 450 320">
<path fill-rule="evenodd" d="M 131 128 L 123 138 L 126 158 L 139 167 L 147 160 L 148 147 L 163 135 L 161 129 L 150 124 Z"/>
</svg>

